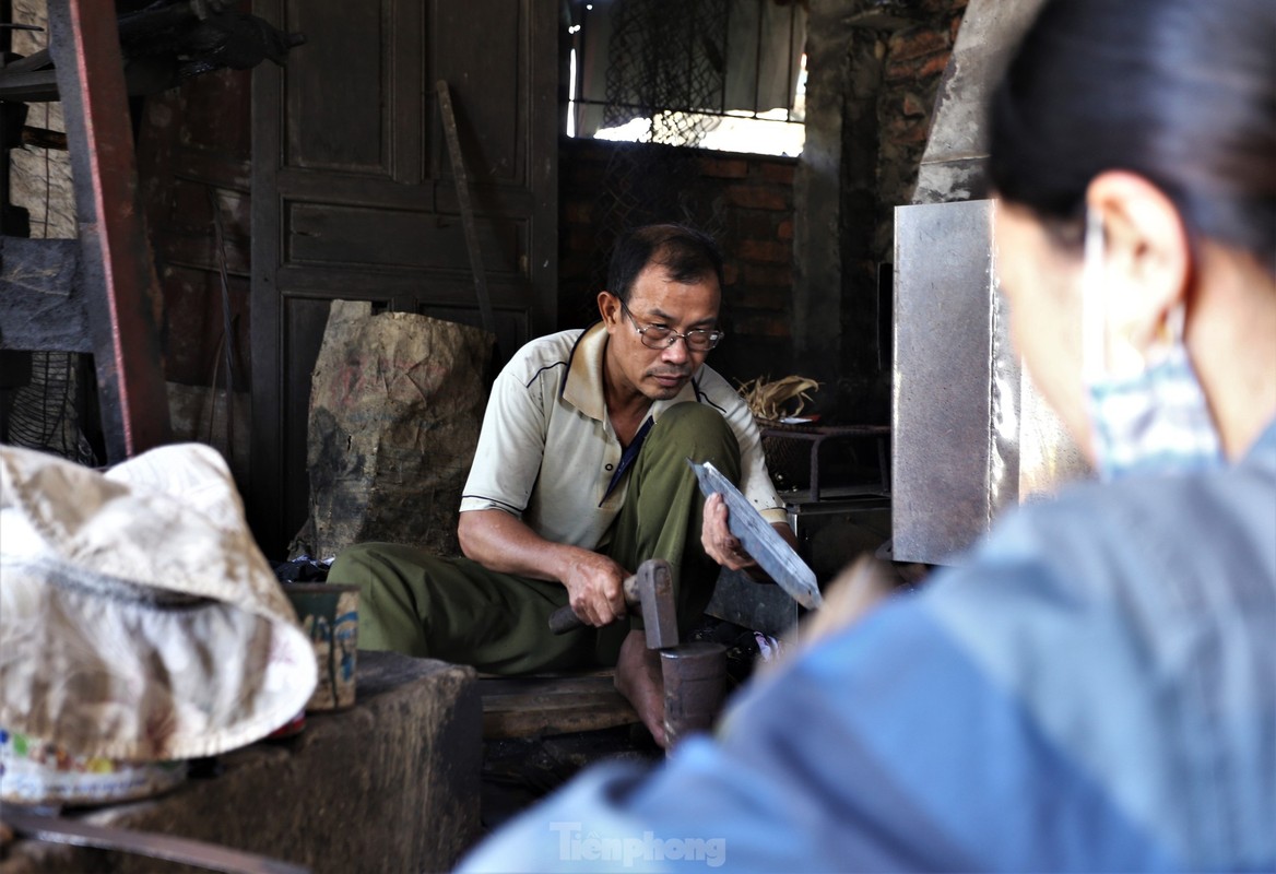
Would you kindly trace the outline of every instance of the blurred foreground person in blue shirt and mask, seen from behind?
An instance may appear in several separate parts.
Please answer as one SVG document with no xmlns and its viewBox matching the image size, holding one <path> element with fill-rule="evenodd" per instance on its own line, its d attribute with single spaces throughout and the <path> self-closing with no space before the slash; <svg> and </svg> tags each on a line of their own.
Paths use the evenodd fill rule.
<svg viewBox="0 0 1276 874">
<path fill-rule="evenodd" d="M 989 133 L 1013 334 L 1097 481 L 466 870 L 1276 870 L 1276 4 L 1048 0 Z"/>
</svg>

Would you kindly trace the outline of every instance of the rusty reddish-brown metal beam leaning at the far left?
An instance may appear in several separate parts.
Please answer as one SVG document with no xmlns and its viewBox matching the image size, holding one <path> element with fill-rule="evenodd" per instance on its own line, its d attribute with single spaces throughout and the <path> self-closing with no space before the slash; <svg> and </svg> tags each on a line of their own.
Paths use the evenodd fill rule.
<svg viewBox="0 0 1276 874">
<path fill-rule="evenodd" d="M 50 0 L 107 461 L 172 438 L 115 4 Z"/>
</svg>

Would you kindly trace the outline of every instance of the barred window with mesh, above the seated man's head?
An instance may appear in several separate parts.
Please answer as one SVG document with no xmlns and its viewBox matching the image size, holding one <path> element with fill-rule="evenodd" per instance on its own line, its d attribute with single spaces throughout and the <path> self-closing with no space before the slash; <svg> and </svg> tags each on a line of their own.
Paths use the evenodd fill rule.
<svg viewBox="0 0 1276 874">
<path fill-rule="evenodd" d="M 564 0 L 567 134 L 801 152 L 805 0 Z"/>
</svg>

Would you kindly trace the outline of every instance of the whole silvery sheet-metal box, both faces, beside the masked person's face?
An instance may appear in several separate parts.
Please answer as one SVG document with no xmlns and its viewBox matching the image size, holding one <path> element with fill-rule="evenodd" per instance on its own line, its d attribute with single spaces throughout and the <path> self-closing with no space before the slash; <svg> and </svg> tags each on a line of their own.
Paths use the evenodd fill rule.
<svg viewBox="0 0 1276 874">
<path fill-rule="evenodd" d="M 1011 344 L 994 202 L 894 217 L 893 554 L 947 564 L 1003 508 L 1087 468 Z"/>
</svg>

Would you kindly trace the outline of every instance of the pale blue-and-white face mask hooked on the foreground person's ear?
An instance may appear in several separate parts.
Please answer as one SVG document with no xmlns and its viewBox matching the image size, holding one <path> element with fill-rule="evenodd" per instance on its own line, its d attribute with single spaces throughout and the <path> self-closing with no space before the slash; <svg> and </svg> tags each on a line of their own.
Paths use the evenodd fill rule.
<svg viewBox="0 0 1276 874">
<path fill-rule="evenodd" d="M 1219 431 L 1183 344 L 1182 305 L 1170 336 L 1143 352 L 1124 330 L 1131 301 L 1106 293 L 1104 228 L 1094 212 L 1086 213 L 1085 258 L 1082 367 L 1099 477 L 1221 467 Z"/>
</svg>

